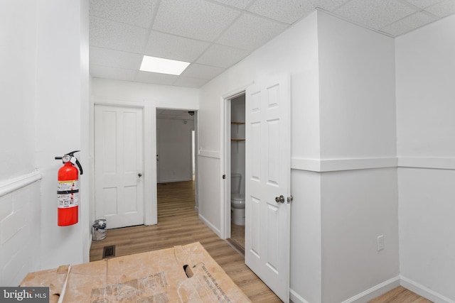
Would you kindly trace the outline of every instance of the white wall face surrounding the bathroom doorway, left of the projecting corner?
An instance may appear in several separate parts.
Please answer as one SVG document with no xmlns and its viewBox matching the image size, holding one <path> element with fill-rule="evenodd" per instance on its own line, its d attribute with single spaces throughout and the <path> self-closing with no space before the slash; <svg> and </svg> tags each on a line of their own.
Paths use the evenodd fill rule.
<svg viewBox="0 0 455 303">
<path fill-rule="evenodd" d="M 202 87 L 198 112 L 199 214 L 220 234 L 223 208 L 220 203 L 223 175 L 220 172 L 222 96 L 240 92 L 245 86 L 268 75 L 291 75 L 291 123 L 294 130 L 291 133 L 291 183 L 293 203 L 299 211 L 291 210 L 291 289 L 294 299 L 297 296 L 309 299 L 321 297 L 321 285 L 314 282 L 315 277 L 321 278 L 321 246 L 312 245 L 319 243 L 321 236 L 319 187 L 314 187 L 314 184 L 319 184 L 319 175 L 306 172 L 314 159 L 319 159 L 317 16 L 317 13 L 312 13 Z M 311 241 L 306 242 L 307 239 Z M 303 259 L 302 256 L 308 258 Z"/>
</svg>

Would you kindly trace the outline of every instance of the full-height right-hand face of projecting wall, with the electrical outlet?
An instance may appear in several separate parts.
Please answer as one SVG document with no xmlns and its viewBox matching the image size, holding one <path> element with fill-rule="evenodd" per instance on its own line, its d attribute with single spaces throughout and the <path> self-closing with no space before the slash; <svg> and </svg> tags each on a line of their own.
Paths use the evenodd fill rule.
<svg viewBox="0 0 455 303">
<path fill-rule="evenodd" d="M 395 48 L 392 38 L 325 13 L 318 30 L 321 302 L 343 302 L 398 280 Z"/>
</svg>

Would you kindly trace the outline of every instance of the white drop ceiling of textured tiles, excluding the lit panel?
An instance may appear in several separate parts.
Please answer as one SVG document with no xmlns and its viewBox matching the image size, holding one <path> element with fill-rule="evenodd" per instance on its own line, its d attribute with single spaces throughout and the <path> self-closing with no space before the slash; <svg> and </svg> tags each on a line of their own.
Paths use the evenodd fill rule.
<svg viewBox="0 0 455 303">
<path fill-rule="evenodd" d="M 90 74 L 199 88 L 315 9 L 397 37 L 454 14 L 455 0 L 90 0 Z M 141 72 L 144 55 L 191 65 Z"/>
</svg>

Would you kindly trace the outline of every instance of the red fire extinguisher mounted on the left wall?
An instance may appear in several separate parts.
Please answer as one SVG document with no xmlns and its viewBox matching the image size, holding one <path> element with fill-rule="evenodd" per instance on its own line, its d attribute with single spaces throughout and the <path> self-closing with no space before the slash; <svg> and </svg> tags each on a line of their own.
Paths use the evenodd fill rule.
<svg viewBox="0 0 455 303">
<path fill-rule="evenodd" d="M 79 170 L 82 175 L 82 166 L 79 160 L 75 158 L 74 153 L 80 150 L 72 151 L 55 157 L 55 160 L 62 160 L 63 166 L 58 170 L 58 187 L 57 187 L 57 207 L 58 207 L 58 226 L 69 226 L 76 224 L 78 221 L 79 211 Z M 79 167 L 79 170 L 74 166 Z"/>
</svg>

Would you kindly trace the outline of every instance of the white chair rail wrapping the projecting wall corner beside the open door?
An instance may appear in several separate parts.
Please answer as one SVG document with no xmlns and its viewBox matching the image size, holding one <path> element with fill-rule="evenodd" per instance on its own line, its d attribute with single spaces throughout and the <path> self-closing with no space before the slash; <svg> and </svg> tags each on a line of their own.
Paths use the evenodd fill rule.
<svg viewBox="0 0 455 303">
<path fill-rule="evenodd" d="M 397 167 L 397 158 L 306 159 L 291 158 L 291 169 L 311 172 L 336 172 L 341 170 L 368 170 Z"/>
</svg>

